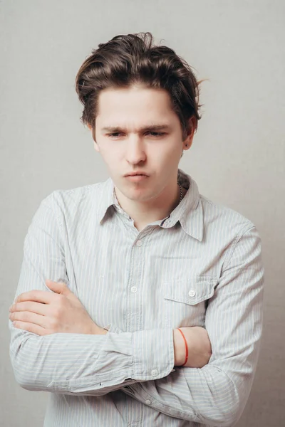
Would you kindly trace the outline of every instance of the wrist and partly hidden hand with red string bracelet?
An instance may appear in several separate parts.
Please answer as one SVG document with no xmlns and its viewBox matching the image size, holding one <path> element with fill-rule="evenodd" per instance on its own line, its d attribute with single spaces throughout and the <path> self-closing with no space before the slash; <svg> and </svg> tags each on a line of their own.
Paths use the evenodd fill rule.
<svg viewBox="0 0 285 427">
<path fill-rule="evenodd" d="M 212 355 L 211 342 L 207 330 L 204 327 L 180 327 L 182 330 L 188 346 L 188 360 L 185 367 L 188 368 L 202 368 L 209 362 Z M 174 339 L 174 352 L 175 352 L 175 366 L 182 366 L 185 362 L 185 341 L 179 330 L 173 331 Z"/>
</svg>

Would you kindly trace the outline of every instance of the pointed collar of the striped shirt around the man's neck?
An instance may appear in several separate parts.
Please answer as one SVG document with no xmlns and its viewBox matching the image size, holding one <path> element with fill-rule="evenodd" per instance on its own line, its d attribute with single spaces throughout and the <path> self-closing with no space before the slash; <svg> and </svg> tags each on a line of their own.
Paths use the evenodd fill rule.
<svg viewBox="0 0 285 427">
<path fill-rule="evenodd" d="M 171 212 L 170 216 L 163 221 L 159 221 L 159 224 L 162 228 L 170 228 L 175 226 L 179 221 L 185 233 L 196 238 L 198 241 L 202 241 L 204 218 L 198 186 L 194 179 L 181 169 L 178 169 L 177 181 L 182 187 L 187 189 L 187 193 L 180 204 Z M 120 214 L 128 216 L 118 204 L 111 178 L 101 184 L 100 190 L 100 203 L 97 206 L 100 223 L 103 223 L 108 218 L 110 206 L 114 206 Z"/>
</svg>

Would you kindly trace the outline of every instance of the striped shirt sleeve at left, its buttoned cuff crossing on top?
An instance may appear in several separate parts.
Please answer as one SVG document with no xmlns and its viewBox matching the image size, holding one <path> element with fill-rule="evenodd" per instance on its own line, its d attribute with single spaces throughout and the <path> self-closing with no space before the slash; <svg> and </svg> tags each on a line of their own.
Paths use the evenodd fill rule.
<svg viewBox="0 0 285 427">
<path fill-rule="evenodd" d="M 52 292 L 45 280 L 68 285 L 65 251 L 53 194 L 41 202 L 24 241 L 16 296 L 28 290 Z M 16 298 L 16 297 L 15 297 Z M 28 390 L 100 396 L 136 381 L 172 371 L 172 329 L 105 335 L 56 333 L 38 336 L 9 320 L 10 357 L 16 381 Z"/>
</svg>

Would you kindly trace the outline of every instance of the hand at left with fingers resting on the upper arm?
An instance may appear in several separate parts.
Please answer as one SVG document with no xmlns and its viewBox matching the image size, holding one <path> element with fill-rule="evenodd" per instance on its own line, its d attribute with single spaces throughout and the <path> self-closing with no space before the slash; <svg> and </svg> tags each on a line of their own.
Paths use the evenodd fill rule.
<svg viewBox="0 0 285 427">
<path fill-rule="evenodd" d="M 56 332 L 106 334 L 98 327 L 85 307 L 65 283 L 46 280 L 47 290 L 31 290 L 16 298 L 9 318 L 17 327 L 37 335 Z"/>
</svg>

